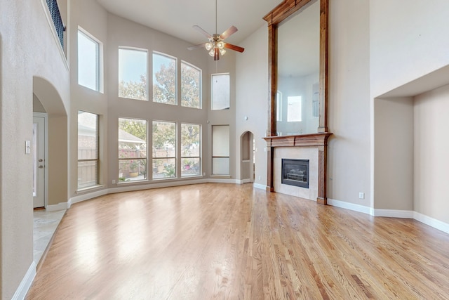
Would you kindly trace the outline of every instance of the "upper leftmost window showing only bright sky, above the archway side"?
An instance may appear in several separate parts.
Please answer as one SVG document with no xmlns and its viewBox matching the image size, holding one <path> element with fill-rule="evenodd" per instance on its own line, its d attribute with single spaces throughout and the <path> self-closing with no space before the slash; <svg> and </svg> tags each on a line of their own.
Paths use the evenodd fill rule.
<svg viewBox="0 0 449 300">
<path fill-rule="evenodd" d="M 100 42 L 78 30 L 78 84 L 100 91 Z"/>
</svg>

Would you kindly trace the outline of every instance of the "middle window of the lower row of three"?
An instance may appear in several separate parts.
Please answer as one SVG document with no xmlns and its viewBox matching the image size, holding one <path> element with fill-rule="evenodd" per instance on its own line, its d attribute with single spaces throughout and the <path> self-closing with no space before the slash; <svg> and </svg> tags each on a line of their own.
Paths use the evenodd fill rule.
<svg viewBox="0 0 449 300">
<path fill-rule="evenodd" d="M 176 123 L 153 121 L 153 179 L 176 177 Z"/>
</svg>

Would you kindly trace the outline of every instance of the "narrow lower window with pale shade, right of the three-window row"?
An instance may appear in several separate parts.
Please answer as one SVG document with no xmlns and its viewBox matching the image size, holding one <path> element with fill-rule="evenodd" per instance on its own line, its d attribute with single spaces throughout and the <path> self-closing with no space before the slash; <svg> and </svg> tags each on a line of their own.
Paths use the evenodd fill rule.
<svg viewBox="0 0 449 300">
<path fill-rule="evenodd" d="M 212 175 L 229 175 L 229 125 L 212 126 Z"/>
</svg>

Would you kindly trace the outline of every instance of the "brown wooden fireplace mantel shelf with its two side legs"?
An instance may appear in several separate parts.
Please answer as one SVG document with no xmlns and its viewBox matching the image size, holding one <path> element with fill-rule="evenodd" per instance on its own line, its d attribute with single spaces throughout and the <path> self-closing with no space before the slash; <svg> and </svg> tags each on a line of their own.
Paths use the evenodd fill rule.
<svg viewBox="0 0 449 300">
<path fill-rule="evenodd" d="M 267 190 L 274 192 L 274 148 L 276 147 L 318 147 L 318 197 L 316 202 L 328 204 L 326 171 L 328 169 L 328 138 L 330 132 L 301 134 L 295 136 L 267 136 Z"/>
</svg>

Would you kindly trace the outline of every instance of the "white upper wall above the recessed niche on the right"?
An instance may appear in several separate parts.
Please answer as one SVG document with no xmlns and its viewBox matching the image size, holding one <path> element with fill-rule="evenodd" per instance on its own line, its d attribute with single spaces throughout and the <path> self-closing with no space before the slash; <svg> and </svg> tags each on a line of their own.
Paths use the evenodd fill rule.
<svg viewBox="0 0 449 300">
<path fill-rule="evenodd" d="M 371 95 L 380 96 L 449 65 L 447 0 L 370 4 Z"/>
</svg>

